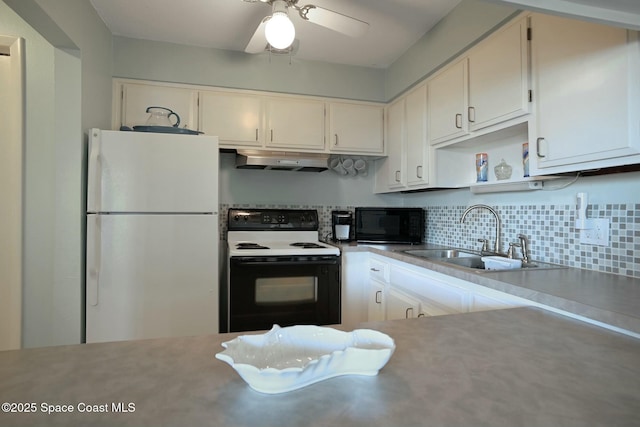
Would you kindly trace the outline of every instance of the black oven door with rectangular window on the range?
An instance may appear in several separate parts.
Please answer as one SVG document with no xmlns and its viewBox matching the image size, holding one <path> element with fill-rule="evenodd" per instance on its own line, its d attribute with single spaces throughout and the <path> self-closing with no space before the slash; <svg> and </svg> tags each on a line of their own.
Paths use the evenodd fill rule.
<svg viewBox="0 0 640 427">
<path fill-rule="evenodd" d="M 229 332 L 340 323 L 339 256 L 232 257 Z"/>
</svg>

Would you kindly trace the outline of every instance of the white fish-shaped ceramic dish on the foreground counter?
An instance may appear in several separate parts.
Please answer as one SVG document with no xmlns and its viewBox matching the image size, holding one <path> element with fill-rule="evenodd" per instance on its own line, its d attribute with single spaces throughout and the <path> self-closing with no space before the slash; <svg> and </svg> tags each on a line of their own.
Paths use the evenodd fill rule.
<svg viewBox="0 0 640 427">
<path fill-rule="evenodd" d="M 377 375 L 396 346 L 371 329 L 352 332 L 298 325 L 261 335 L 241 335 L 222 343 L 216 354 L 261 393 L 284 393 L 338 375 Z"/>
</svg>

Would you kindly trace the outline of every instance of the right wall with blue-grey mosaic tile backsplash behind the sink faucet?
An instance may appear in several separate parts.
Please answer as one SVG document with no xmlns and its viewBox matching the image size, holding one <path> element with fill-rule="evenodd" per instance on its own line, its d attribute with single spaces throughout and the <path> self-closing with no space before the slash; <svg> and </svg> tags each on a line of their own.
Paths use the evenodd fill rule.
<svg viewBox="0 0 640 427">
<path fill-rule="evenodd" d="M 640 172 L 581 177 L 545 184 L 547 190 L 474 195 L 468 189 L 406 195 L 407 205 L 427 210 L 426 241 L 447 246 L 479 249 L 478 238 L 495 239 L 495 221 L 486 211 L 471 212 L 465 224 L 459 220 L 473 204 L 487 204 L 502 219 L 502 247 L 517 242 L 523 233 L 531 242 L 532 258 L 577 268 L 640 278 Z M 559 188 L 553 190 L 552 188 Z M 579 242 L 574 228 L 575 196 L 589 194 L 590 218 L 611 221 L 610 245 Z"/>
</svg>

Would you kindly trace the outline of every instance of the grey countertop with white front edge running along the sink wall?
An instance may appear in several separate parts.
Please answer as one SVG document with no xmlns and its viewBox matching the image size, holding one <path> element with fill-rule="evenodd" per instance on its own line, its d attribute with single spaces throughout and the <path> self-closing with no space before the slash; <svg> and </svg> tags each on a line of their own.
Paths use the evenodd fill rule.
<svg viewBox="0 0 640 427">
<path fill-rule="evenodd" d="M 579 268 L 472 271 L 405 254 L 423 245 L 338 245 L 343 252 L 368 251 L 506 292 L 534 303 L 629 331 L 640 337 L 640 279 Z"/>
</svg>

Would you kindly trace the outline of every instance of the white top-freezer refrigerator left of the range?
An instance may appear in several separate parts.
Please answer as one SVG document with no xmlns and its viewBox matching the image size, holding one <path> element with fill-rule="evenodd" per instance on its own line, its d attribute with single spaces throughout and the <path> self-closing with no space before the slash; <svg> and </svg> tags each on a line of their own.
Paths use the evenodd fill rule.
<svg viewBox="0 0 640 427">
<path fill-rule="evenodd" d="M 92 129 L 86 342 L 218 333 L 218 138 Z"/>
</svg>

